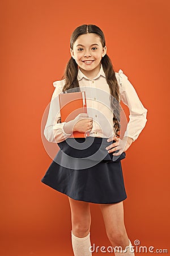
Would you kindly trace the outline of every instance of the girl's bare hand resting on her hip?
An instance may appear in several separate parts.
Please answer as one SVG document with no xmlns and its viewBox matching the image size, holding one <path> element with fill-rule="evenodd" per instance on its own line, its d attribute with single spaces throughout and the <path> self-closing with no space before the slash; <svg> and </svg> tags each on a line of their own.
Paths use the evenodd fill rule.
<svg viewBox="0 0 170 256">
<path fill-rule="evenodd" d="M 122 152 L 125 152 L 130 147 L 131 143 L 133 142 L 133 139 L 130 137 L 124 137 L 123 139 L 120 139 L 116 136 L 111 137 L 107 140 L 108 142 L 116 141 L 109 146 L 106 147 L 106 150 L 108 150 L 108 153 L 113 152 L 113 155 L 121 155 Z M 119 150 L 117 153 L 114 153 L 114 151 Z"/>
</svg>

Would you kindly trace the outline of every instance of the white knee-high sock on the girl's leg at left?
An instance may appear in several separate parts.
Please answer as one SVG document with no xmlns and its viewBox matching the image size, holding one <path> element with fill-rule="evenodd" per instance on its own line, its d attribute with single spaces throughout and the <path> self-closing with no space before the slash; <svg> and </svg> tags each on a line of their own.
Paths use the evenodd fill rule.
<svg viewBox="0 0 170 256">
<path fill-rule="evenodd" d="M 90 232 L 86 237 L 76 237 L 71 230 L 71 242 L 74 256 L 91 256 L 90 252 Z"/>
</svg>

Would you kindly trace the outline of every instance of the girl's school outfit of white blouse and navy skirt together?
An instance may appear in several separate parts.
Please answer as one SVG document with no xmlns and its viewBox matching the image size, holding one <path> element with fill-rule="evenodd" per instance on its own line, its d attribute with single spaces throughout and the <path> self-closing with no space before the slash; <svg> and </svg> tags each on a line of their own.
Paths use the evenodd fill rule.
<svg viewBox="0 0 170 256">
<path fill-rule="evenodd" d="M 120 86 L 120 101 L 130 112 L 124 136 L 135 141 L 146 125 L 147 109 L 123 71 L 120 69 L 115 75 Z M 105 149 L 114 142 L 107 142 L 114 135 L 114 123 L 110 89 L 102 65 L 94 79 L 88 79 L 80 69 L 77 79 L 80 90 L 86 92 L 87 113 L 93 118 L 90 136 L 69 138 L 71 134 L 66 134 L 63 128 L 65 122 L 57 123 L 60 118 L 58 94 L 62 93 L 65 79 L 53 82 L 55 89 L 44 135 L 49 142 L 58 143 L 59 151 L 41 181 L 75 200 L 118 203 L 127 198 L 121 166 L 126 153 L 113 156 Z"/>
</svg>

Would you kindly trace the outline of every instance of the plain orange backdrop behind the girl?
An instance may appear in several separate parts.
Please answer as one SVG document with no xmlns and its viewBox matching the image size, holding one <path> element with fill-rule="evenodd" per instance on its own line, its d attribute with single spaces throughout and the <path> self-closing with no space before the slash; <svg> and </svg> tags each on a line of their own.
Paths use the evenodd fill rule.
<svg viewBox="0 0 170 256">
<path fill-rule="evenodd" d="M 61 79 L 70 58 L 70 35 L 81 24 L 104 31 L 114 70 L 124 71 L 148 109 L 146 127 L 122 161 L 129 237 L 169 249 L 169 1 L 1 0 L 0 5 L 0 255 L 73 255 L 67 196 L 40 181 L 52 161 L 40 129 L 52 82 Z M 91 214 L 91 242 L 111 245 L 97 205 L 91 204 Z"/>
</svg>

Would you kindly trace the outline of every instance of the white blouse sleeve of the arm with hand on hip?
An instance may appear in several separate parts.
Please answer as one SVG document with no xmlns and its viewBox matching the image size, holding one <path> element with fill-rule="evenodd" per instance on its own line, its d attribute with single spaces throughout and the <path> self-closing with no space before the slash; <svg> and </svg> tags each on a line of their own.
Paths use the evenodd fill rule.
<svg viewBox="0 0 170 256">
<path fill-rule="evenodd" d="M 121 101 L 128 106 L 130 113 L 124 137 L 128 136 L 135 141 L 146 125 L 147 109 L 142 105 L 133 85 L 121 69 L 118 71 L 118 77 Z"/>
</svg>

